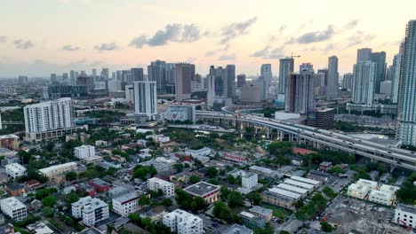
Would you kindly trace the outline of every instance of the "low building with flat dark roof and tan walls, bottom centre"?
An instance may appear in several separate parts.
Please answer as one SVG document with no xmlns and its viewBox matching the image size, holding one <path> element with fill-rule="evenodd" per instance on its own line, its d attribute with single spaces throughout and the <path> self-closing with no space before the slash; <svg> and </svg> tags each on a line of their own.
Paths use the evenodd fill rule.
<svg viewBox="0 0 416 234">
<path fill-rule="evenodd" d="M 220 186 L 203 181 L 188 186 L 184 191 L 192 196 L 203 198 L 207 203 L 213 203 L 220 198 Z"/>
</svg>

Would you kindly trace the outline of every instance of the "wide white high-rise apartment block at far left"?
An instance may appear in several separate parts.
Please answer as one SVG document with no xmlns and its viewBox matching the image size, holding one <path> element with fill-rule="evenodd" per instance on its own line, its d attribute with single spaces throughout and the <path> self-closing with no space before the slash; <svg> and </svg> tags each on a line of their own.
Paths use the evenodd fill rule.
<svg viewBox="0 0 416 234">
<path fill-rule="evenodd" d="M 38 133 L 75 126 L 74 105 L 71 98 L 27 105 L 23 109 L 27 133 Z"/>
</svg>

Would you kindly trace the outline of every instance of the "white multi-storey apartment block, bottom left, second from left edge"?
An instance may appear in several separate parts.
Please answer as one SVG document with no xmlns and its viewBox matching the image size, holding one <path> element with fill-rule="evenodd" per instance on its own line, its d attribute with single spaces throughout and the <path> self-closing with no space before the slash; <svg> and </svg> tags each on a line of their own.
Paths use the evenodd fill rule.
<svg viewBox="0 0 416 234">
<path fill-rule="evenodd" d="M 74 218 L 83 218 L 86 226 L 93 226 L 96 222 L 108 219 L 108 204 L 100 199 L 84 197 L 71 204 L 72 216 Z"/>
</svg>

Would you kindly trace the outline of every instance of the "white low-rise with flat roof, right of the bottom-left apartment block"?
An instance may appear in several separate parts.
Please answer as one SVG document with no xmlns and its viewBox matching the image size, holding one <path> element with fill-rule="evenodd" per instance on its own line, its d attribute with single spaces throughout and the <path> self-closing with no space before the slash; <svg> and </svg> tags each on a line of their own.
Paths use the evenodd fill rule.
<svg viewBox="0 0 416 234">
<path fill-rule="evenodd" d="M 113 199 L 113 210 L 116 214 L 128 216 L 140 209 L 139 193 L 136 191 L 128 192 Z"/>
</svg>

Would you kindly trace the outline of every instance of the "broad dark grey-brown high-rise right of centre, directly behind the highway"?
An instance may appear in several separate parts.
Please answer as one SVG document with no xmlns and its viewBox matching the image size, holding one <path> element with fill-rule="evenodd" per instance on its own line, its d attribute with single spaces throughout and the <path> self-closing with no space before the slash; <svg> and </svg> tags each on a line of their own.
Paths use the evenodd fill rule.
<svg viewBox="0 0 416 234">
<path fill-rule="evenodd" d="M 303 68 L 300 74 L 290 74 L 284 98 L 284 111 L 289 113 L 308 113 L 314 107 L 313 69 Z"/>
</svg>

